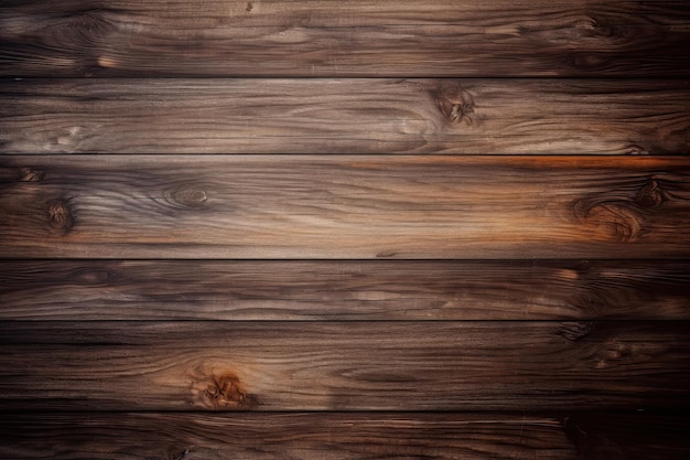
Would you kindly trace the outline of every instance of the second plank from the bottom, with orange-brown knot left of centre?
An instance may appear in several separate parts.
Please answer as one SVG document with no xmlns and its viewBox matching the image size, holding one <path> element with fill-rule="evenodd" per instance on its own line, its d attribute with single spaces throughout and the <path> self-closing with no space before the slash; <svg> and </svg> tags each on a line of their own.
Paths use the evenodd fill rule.
<svg viewBox="0 0 690 460">
<path fill-rule="evenodd" d="M 2 322 L 0 408 L 688 408 L 688 325 Z"/>
</svg>

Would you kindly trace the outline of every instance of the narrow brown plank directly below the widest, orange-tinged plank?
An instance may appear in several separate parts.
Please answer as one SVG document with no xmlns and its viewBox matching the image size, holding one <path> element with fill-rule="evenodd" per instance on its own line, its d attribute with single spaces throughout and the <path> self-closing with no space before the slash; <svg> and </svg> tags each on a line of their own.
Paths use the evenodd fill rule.
<svg viewBox="0 0 690 460">
<path fill-rule="evenodd" d="M 2 320 L 690 320 L 690 263 L 3 260 Z"/>
</svg>

